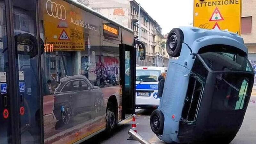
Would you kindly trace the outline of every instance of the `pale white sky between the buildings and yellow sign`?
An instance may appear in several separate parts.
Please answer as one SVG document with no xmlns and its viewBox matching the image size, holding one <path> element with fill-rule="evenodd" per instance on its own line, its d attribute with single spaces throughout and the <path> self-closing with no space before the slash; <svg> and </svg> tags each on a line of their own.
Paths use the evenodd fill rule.
<svg viewBox="0 0 256 144">
<path fill-rule="evenodd" d="M 136 0 L 167 34 L 172 28 L 193 23 L 193 0 Z M 192 26 L 192 25 L 191 25 Z"/>
</svg>

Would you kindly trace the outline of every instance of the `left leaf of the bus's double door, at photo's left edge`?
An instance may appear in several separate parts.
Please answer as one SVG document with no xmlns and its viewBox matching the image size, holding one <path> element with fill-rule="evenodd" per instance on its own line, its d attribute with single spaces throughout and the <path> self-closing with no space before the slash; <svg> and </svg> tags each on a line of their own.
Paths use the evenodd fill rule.
<svg viewBox="0 0 256 144">
<path fill-rule="evenodd" d="M 8 65 L 8 39 L 6 27 L 6 8 L 4 0 L 0 0 L 0 143 L 11 142 L 11 118 L 10 118 L 10 76 Z M 9 138 L 9 141 L 8 141 Z"/>
</svg>

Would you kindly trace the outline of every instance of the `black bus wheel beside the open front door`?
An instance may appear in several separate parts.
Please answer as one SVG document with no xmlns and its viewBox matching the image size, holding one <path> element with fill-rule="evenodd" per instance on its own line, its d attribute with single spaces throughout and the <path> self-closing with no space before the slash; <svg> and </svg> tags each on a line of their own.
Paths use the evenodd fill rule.
<svg viewBox="0 0 256 144">
<path fill-rule="evenodd" d="M 106 111 L 106 132 L 111 135 L 116 127 L 116 111 L 112 102 L 108 102 Z"/>
</svg>

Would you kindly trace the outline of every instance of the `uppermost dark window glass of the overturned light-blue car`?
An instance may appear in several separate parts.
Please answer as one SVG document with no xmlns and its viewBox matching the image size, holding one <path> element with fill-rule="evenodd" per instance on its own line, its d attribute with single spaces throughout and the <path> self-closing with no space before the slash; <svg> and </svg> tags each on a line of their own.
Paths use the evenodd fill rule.
<svg viewBox="0 0 256 144">
<path fill-rule="evenodd" d="M 226 52 L 206 52 L 200 54 L 207 66 L 213 71 L 247 71 L 253 69 L 246 57 Z"/>
</svg>

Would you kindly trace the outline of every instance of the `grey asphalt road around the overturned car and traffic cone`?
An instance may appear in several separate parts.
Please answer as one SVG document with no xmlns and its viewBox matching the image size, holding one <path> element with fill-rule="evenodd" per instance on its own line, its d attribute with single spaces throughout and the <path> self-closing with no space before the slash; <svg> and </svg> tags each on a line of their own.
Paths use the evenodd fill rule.
<svg viewBox="0 0 256 144">
<path fill-rule="evenodd" d="M 256 143 L 256 97 L 251 97 L 251 102 L 246 111 L 243 124 L 231 144 L 255 144 Z M 152 144 L 161 144 L 163 141 L 159 140 L 151 131 L 149 125 L 150 110 L 138 110 L 136 124 L 137 132 Z M 97 136 L 84 142 L 84 144 L 139 144 L 138 141 L 126 140 L 129 135 L 128 131 L 131 128 L 132 119 L 126 119 L 119 123 L 118 128 L 111 137 L 105 136 L 101 133 Z"/>
</svg>

